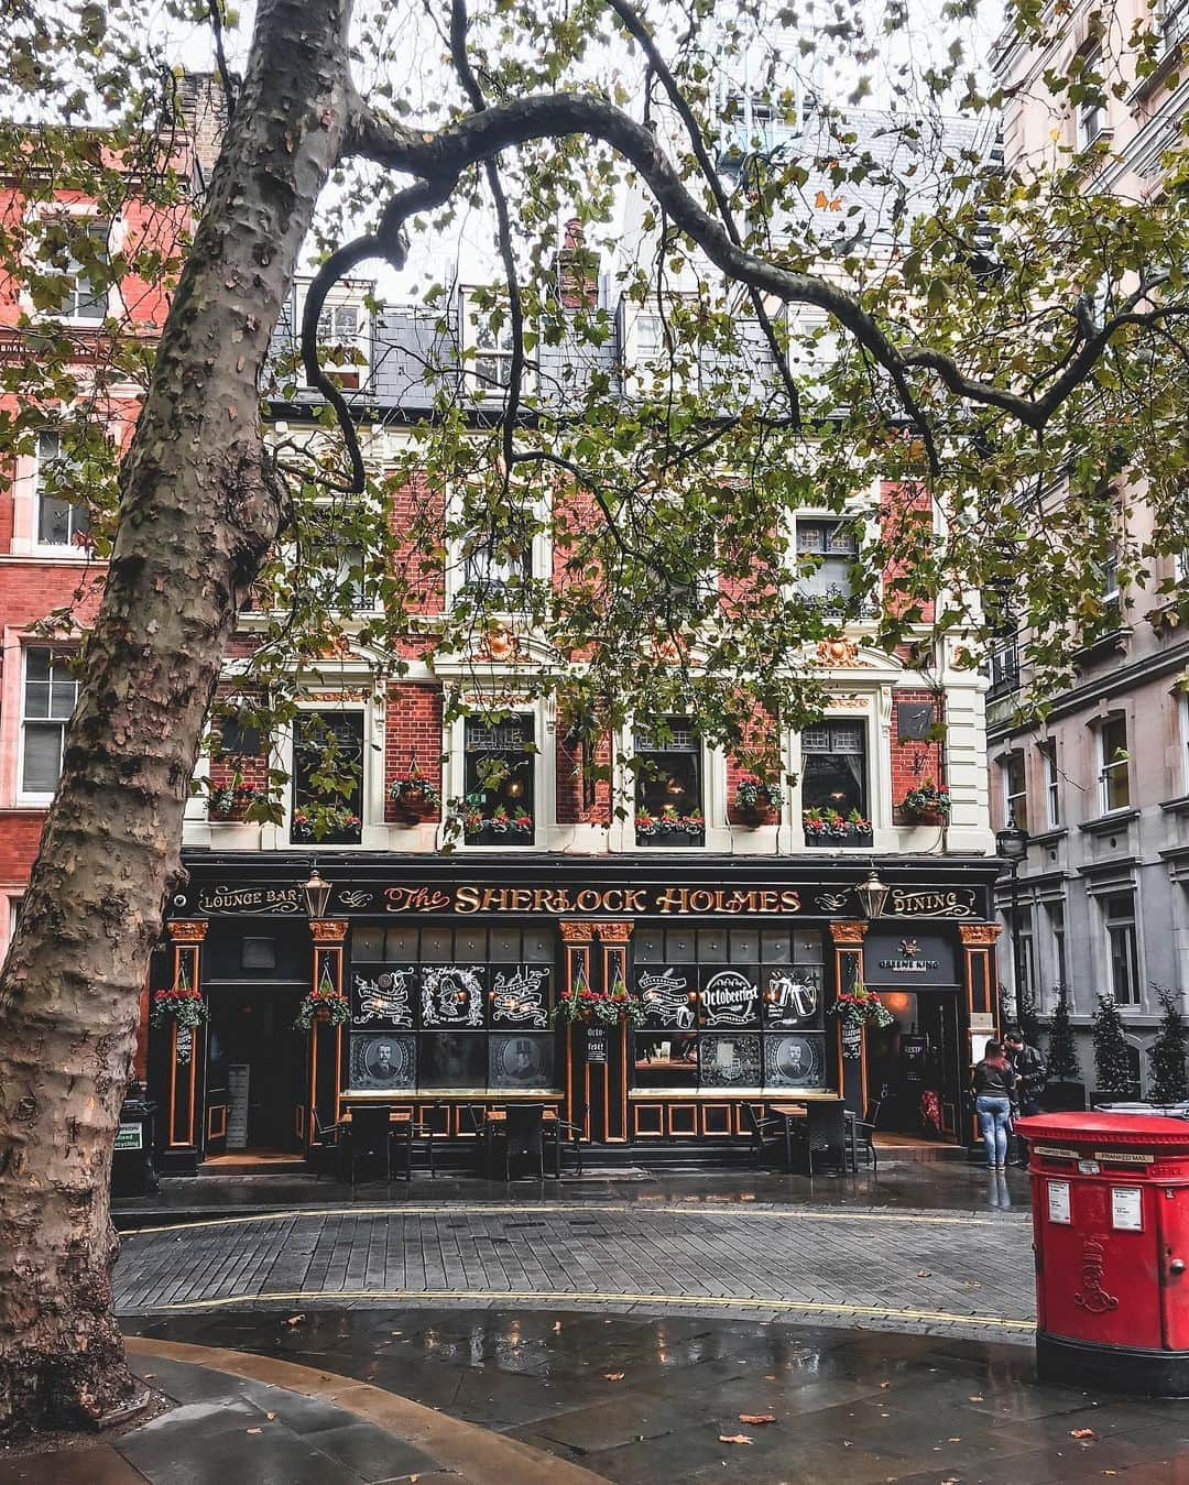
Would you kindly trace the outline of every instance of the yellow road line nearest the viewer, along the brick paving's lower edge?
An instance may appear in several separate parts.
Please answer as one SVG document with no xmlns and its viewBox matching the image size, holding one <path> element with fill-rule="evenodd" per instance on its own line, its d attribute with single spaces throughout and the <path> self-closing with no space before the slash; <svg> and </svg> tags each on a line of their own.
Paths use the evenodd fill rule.
<svg viewBox="0 0 1189 1485">
<path fill-rule="evenodd" d="M 953 1325 L 980 1325 L 996 1331 L 1036 1329 L 1035 1320 L 1011 1320 L 1003 1316 L 950 1314 L 946 1310 L 892 1310 L 888 1305 L 865 1304 L 819 1304 L 813 1299 L 732 1299 L 708 1295 L 631 1295 L 631 1293 L 571 1293 L 548 1289 L 294 1289 L 289 1292 L 263 1292 L 255 1295 L 218 1295 L 209 1299 L 184 1299 L 157 1305 L 153 1313 L 165 1310 L 226 1310 L 239 1304 L 264 1304 L 267 1301 L 303 1304 L 312 1299 L 499 1299 L 508 1304 L 524 1304 L 543 1299 L 548 1304 L 662 1304 L 689 1305 L 711 1310 L 778 1310 L 782 1314 L 845 1314 L 871 1320 L 929 1320 Z"/>
</svg>

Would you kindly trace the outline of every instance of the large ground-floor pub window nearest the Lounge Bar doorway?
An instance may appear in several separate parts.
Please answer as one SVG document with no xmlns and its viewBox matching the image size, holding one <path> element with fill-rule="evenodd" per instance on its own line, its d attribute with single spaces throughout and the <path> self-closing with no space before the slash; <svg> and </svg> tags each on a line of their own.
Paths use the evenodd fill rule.
<svg viewBox="0 0 1189 1485">
<path fill-rule="evenodd" d="M 539 928 L 353 928 L 350 1091 L 554 1091 L 554 961 Z"/>
</svg>

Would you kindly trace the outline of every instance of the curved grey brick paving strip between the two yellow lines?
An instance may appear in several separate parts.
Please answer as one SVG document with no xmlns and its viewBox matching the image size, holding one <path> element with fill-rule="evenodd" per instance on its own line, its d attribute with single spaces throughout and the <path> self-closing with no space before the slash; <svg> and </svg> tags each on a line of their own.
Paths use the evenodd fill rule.
<svg viewBox="0 0 1189 1485">
<path fill-rule="evenodd" d="M 125 1237 L 125 1316 L 442 1301 L 806 1319 L 1030 1341 L 1021 1212 L 417 1203 L 196 1222 Z"/>
</svg>

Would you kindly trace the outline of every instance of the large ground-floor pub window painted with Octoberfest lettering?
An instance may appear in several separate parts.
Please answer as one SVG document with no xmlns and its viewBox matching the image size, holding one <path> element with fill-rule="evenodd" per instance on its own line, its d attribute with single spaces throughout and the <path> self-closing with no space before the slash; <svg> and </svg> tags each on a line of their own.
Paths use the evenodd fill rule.
<svg viewBox="0 0 1189 1485">
<path fill-rule="evenodd" d="M 638 928 L 635 1086 L 825 1087 L 824 976 L 818 928 Z"/>
</svg>

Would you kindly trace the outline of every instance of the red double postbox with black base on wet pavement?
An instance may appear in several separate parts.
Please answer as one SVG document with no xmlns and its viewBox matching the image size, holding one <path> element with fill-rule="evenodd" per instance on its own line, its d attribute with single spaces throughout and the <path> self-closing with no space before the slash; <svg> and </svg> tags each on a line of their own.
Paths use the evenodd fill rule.
<svg viewBox="0 0 1189 1485">
<path fill-rule="evenodd" d="M 1045 1381 L 1189 1396 L 1189 1123 L 1038 1114 L 1029 1142 Z"/>
</svg>

